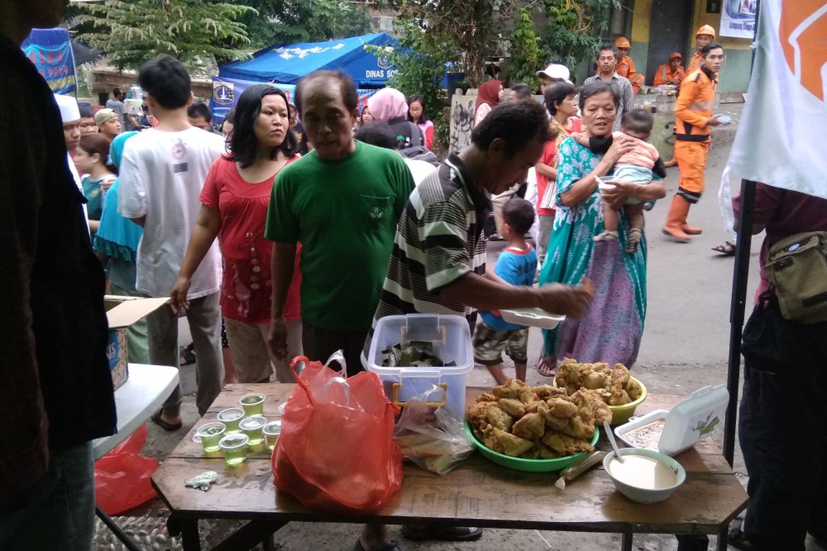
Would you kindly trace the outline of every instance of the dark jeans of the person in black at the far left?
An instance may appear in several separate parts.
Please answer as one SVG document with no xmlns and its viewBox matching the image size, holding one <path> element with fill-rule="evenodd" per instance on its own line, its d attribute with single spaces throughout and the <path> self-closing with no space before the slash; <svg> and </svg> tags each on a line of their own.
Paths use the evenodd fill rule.
<svg viewBox="0 0 827 551">
<path fill-rule="evenodd" d="M 52 449 L 22 509 L 0 515 L 0 549 L 89 551 L 95 521 L 92 443 Z"/>
</svg>

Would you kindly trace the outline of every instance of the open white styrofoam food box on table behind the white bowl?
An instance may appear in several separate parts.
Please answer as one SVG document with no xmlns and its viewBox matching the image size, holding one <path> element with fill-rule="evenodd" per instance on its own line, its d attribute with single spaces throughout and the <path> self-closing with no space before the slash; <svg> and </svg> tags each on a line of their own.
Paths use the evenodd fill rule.
<svg viewBox="0 0 827 551">
<path fill-rule="evenodd" d="M 657 410 L 630 420 L 616 427 L 614 435 L 623 440 L 624 444 L 635 447 L 625 438 L 630 430 L 648 425 L 653 420 L 665 419 L 657 451 L 674 456 L 690 449 L 701 439 L 714 435 L 719 427 L 724 426 L 728 403 L 729 391 L 725 385 L 699 388 L 686 400 L 678 402 L 672 410 Z"/>
</svg>

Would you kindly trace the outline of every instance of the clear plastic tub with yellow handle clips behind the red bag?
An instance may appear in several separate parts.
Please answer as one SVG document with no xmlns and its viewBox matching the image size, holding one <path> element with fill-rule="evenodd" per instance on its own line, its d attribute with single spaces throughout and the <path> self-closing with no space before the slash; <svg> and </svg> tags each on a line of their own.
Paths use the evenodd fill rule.
<svg viewBox="0 0 827 551">
<path fill-rule="evenodd" d="M 386 368 L 382 350 L 412 340 L 433 342 L 433 353 L 443 362 L 457 363 L 451 368 Z M 462 316 L 409 314 L 385 316 L 376 322 L 370 340 L 365 368 L 377 373 L 390 401 L 404 406 L 409 398 L 427 392 L 433 385 L 444 385 L 444 406 L 454 416 L 465 419 L 466 375 L 474 368 L 474 350 L 468 321 Z M 436 402 L 442 405 L 441 402 Z M 435 404 L 436 405 L 436 404 Z"/>
</svg>

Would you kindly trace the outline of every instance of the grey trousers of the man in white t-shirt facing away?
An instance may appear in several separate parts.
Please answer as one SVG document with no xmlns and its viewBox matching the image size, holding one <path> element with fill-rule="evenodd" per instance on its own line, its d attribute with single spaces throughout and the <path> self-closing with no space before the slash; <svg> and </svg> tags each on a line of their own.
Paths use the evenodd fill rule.
<svg viewBox="0 0 827 551">
<path fill-rule="evenodd" d="M 221 352 L 221 310 L 218 307 L 219 293 L 198 297 L 189 301 L 184 310 L 193 335 L 195 346 L 195 382 L 198 392 L 195 405 L 203 416 L 221 392 L 224 378 L 224 360 Z M 178 366 L 178 317 L 169 306 L 162 306 L 146 316 L 146 327 L 150 334 L 150 357 L 155 365 Z M 178 384 L 164 402 L 164 412 L 177 416 L 181 411 L 184 394 Z"/>
</svg>

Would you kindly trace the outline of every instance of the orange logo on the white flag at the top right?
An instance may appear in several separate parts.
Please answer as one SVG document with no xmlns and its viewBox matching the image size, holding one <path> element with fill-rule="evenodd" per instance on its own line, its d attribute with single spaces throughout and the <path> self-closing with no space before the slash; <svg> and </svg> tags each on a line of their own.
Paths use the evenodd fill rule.
<svg viewBox="0 0 827 551">
<path fill-rule="evenodd" d="M 824 101 L 827 92 L 827 2 L 782 0 L 778 37 L 786 64 L 796 80 Z"/>
</svg>

